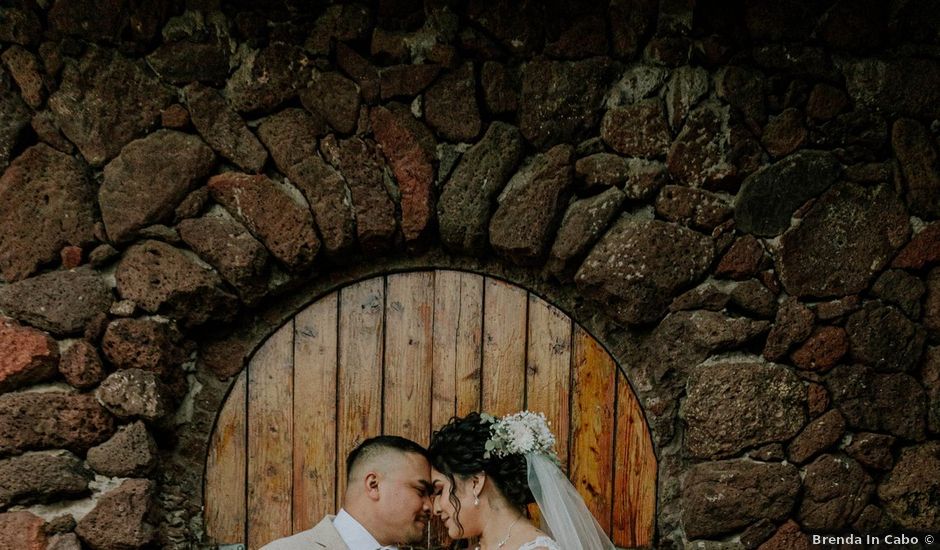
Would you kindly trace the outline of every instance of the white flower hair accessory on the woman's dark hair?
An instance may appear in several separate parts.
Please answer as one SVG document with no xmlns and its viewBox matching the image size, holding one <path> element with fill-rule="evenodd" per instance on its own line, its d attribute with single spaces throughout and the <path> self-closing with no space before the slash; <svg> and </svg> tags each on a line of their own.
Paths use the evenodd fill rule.
<svg viewBox="0 0 940 550">
<path fill-rule="evenodd" d="M 503 457 L 512 454 L 537 453 L 557 460 L 555 436 L 549 422 L 542 413 L 521 411 L 495 418 L 480 414 L 481 422 L 490 424 L 490 438 L 486 441 L 483 458 Z"/>
</svg>

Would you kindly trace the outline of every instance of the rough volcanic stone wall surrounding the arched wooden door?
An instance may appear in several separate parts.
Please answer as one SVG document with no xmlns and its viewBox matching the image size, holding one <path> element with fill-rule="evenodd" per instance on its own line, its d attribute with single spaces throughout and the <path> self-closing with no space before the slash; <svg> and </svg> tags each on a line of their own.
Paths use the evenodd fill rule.
<svg viewBox="0 0 940 550">
<path fill-rule="evenodd" d="M 611 350 L 658 547 L 940 531 L 931 0 L 265 4 L 0 7 L 6 547 L 204 542 L 253 349 L 437 266 Z"/>
</svg>

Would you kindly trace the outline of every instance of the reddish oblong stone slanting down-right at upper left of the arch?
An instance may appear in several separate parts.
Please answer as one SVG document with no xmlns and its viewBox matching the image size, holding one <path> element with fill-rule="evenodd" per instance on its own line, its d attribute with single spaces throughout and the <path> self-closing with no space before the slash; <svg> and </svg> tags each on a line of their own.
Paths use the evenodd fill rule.
<svg viewBox="0 0 940 550">
<path fill-rule="evenodd" d="M 248 304 L 267 289 L 268 251 L 238 222 L 221 216 L 183 220 L 183 241 L 238 291 Z"/>
</svg>

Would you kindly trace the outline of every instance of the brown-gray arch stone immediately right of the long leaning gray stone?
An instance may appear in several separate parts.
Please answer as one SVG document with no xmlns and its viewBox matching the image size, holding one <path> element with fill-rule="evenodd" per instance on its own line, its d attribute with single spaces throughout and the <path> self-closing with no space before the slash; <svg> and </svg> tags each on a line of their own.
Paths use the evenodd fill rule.
<svg viewBox="0 0 940 550">
<path fill-rule="evenodd" d="M 490 221 L 494 251 L 519 265 L 544 259 L 574 181 L 574 150 L 556 145 L 509 180 Z"/>
</svg>

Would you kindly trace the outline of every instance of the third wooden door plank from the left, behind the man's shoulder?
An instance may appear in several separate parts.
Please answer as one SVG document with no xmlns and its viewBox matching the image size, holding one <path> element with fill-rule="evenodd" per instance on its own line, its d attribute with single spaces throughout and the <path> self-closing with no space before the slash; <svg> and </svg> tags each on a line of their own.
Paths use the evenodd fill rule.
<svg viewBox="0 0 940 550">
<path fill-rule="evenodd" d="M 294 319 L 294 532 L 336 505 L 337 295 Z"/>
</svg>

